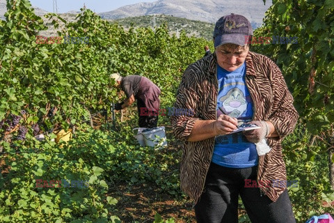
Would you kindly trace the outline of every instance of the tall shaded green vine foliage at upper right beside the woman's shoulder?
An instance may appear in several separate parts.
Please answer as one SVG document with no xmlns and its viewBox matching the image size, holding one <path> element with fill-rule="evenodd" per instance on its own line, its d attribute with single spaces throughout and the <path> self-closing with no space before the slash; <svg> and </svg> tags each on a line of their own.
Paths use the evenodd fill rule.
<svg viewBox="0 0 334 223">
<path fill-rule="evenodd" d="M 334 122 L 334 9 L 331 1 L 273 1 L 254 36 L 296 37 L 296 44 L 255 45 L 281 68 L 312 134 Z M 333 4 L 332 4 L 333 5 Z"/>
</svg>

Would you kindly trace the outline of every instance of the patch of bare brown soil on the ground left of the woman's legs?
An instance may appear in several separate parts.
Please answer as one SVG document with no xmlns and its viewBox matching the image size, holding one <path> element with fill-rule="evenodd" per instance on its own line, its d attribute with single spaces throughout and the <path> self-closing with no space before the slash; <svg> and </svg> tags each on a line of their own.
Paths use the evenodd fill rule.
<svg viewBox="0 0 334 223">
<path fill-rule="evenodd" d="M 164 220 L 174 217 L 175 222 L 196 222 L 191 201 L 175 201 L 175 197 L 162 194 L 155 185 L 118 185 L 111 193 L 118 199 L 117 216 L 122 222 L 153 222 L 156 213 Z"/>
</svg>

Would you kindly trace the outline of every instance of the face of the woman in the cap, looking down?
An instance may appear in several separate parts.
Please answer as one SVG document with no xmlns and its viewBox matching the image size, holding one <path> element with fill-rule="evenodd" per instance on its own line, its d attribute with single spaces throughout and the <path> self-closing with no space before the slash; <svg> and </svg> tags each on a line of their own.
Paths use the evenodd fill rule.
<svg viewBox="0 0 334 223">
<path fill-rule="evenodd" d="M 227 71 L 237 70 L 245 61 L 248 54 L 249 47 L 224 44 L 216 47 L 216 56 L 218 65 Z"/>
</svg>

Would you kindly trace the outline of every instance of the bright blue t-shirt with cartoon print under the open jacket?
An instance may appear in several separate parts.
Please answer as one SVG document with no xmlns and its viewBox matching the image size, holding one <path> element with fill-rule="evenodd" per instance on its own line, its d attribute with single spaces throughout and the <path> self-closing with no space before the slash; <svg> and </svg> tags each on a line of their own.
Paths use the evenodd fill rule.
<svg viewBox="0 0 334 223">
<path fill-rule="evenodd" d="M 246 63 L 232 72 L 217 66 L 217 117 L 228 114 L 238 121 L 248 122 L 253 117 L 253 101 L 245 82 Z M 242 132 L 217 136 L 212 162 L 223 167 L 245 168 L 258 164 L 255 144 Z"/>
</svg>

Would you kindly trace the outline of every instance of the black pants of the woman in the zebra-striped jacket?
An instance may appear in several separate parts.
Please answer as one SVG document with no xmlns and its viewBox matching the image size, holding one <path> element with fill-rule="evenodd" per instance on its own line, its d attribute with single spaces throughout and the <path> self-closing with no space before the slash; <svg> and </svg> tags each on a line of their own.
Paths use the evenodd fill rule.
<svg viewBox="0 0 334 223">
<path fill-rule="evenodd" d="M 240 195 L 251 222 L 295 223 L 287 190 L 273 202 L 260 194 L 260 188 L 245 187 L 244 180 L 256 180 L 256 175 L 257 167 L 236 169 L 211 163 L 205 189 L 195 206 L 197 222 L 237 223 Z"/>
</svg>

